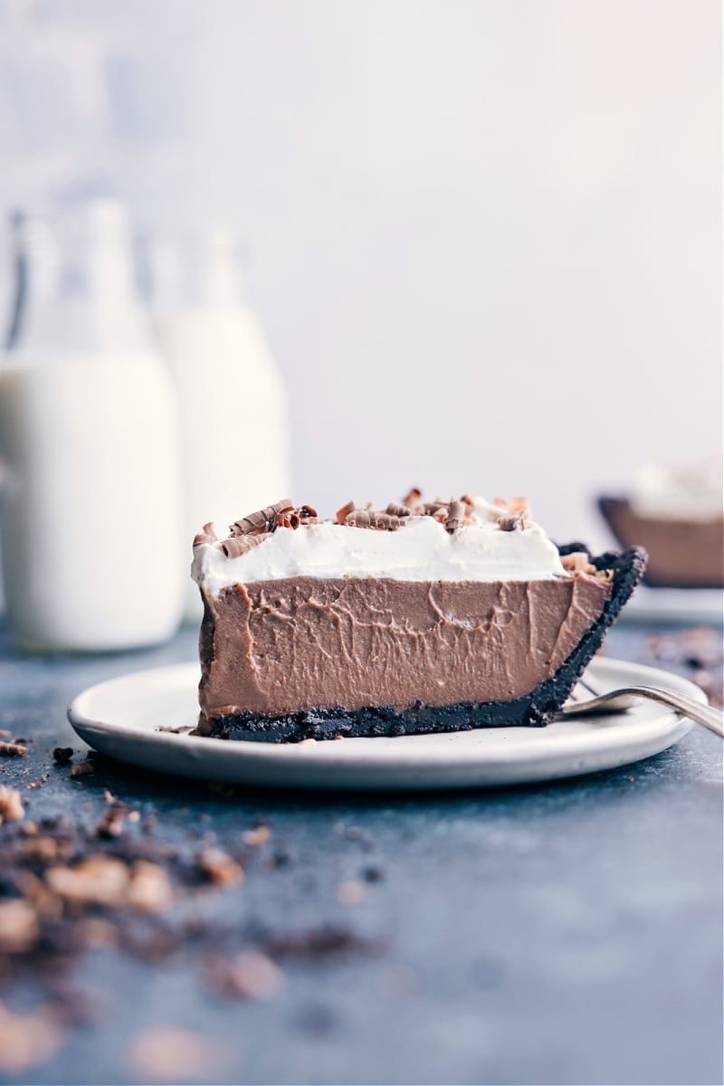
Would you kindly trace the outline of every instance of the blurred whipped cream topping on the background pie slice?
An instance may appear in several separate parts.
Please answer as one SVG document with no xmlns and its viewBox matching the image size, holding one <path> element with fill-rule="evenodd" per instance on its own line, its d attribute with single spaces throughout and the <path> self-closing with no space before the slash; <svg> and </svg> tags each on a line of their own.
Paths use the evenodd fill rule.
<svg viewBox="0 0 724 1086">
<path fill-rule="evenodd" d="M 688 468 L 650 465 L 636 475 L 628 502 L 639 517 L 655 520 L 717 520 L 724 515 L 723 485 L 719 460 Z"/>
</svg>

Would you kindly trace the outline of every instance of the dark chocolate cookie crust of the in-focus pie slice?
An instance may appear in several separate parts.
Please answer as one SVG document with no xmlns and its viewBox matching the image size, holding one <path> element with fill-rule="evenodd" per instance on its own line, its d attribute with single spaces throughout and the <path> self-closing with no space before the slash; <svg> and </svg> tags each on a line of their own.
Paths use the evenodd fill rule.
<svg viewBox="0 0 724 1086">
<path fill-rule="evenodd" d="M 559 546 L 561 555 L 586 551 L 581 543 Z M 550 679 L 515 702 L 460 703 L 449 706 L 418 705 L 398 710 L 391 707 L 305 710 L 282 717 L 234 714 L 207 720 L 201 717 L 198 735 L 266 743 L 299 743 L 302 740 L 334 740 L 338 736 L 419 735 L 429 732 L 469 731 L 473 728 L 511 728 L 547 724 L 569 696 L 580 675 L 600 647 L 606 631 L 642 579 L 646 552 L 631 547 L 621 554 L 590 557 L 596 569 L 613 570 L 611 595 L 598 620 L 579 642 Z M 203 642 L 203 628 L 202 628 Z M 203 658 L 202 643 L 202 658 Z"/>
</svg>

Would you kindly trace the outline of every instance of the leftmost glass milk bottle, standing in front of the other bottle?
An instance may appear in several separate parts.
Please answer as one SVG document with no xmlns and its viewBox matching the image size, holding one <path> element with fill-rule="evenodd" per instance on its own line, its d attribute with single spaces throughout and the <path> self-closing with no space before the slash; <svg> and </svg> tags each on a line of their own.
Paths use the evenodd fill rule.
<svg viewBox="0 0 724 1086">
<path fill-rule="evenodd" d="M 103 651 L 167 639 L 181 616 L 175 391 L 154 351 L 124 209 L 25 220 L 0 359 L 0 530 L 23 646 Z"/>
</svg>

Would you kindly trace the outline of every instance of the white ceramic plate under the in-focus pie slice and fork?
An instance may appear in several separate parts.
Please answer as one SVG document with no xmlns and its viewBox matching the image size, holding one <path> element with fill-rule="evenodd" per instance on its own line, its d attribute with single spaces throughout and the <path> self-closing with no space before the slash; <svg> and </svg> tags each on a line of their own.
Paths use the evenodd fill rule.
<svg viewBox="0 0 724 1086">
<path fill-rule="evenodd" d="M 655 683 L 699 702 L 703 691 L 655 668 L 601 657 L 586 672 L 601 692 Z M 658 754 L 691 722 L 652 702 L 625 714 L 445 735 L 246 743 L 174 733 L 194 727 L 198 664 L 111 679 L 68 708 L 78 735 L 102 754 L 143 769 L 234 784 L 301 788 L 452 788 L 551 781 L 613 769 Z"/>
</svg>

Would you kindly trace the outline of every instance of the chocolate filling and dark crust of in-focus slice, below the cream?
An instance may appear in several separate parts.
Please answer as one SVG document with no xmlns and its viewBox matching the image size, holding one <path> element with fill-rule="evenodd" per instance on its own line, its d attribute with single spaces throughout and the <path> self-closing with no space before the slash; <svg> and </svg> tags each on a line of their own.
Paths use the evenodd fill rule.
<svg viewBox="0 0 724 1086">
<path fill-rule="evenodd" d="M 612 580 L 294 577 L 225 588 L 204 599 L 199 732 L 297 741 L 545 723 L 645 554 L 592 561 Z"/>
</svg>

